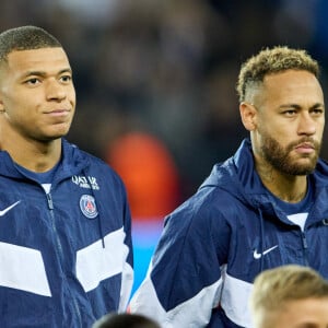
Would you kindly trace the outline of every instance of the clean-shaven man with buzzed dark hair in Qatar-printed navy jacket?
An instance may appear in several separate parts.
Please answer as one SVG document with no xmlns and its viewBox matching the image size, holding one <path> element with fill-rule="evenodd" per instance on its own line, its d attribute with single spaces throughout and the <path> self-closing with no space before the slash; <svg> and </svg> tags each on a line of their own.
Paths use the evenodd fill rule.
<svg viewBox="0 0 328 328">
<path fill-rule="evenodd" d="M 1 33 L 1 328 L 90 328 L 126 311 L 126 190 L 107 164 L 65 139 L 74 112 L 60 43 L 36 26 Z"/>
</svg>

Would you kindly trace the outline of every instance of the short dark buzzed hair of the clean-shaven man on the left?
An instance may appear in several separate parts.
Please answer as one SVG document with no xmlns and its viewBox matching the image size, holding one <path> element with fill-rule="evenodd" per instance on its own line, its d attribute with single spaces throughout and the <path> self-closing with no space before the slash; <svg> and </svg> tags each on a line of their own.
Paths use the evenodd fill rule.
<svg viewBox="0 0 328 328">
<path fill-rule="evenodd" d="M 10 52 L 40 48 L 62 48 L 59 40 L 42 27 L 26 25 L 7 30 L 0 34 L 0 62 Z"/>
</svg>

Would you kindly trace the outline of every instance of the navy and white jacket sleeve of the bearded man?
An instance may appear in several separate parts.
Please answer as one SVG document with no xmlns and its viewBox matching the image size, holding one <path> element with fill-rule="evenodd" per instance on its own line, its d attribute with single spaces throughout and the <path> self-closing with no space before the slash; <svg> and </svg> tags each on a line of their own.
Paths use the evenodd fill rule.
<svg viewBox="0 0 328 328">
<path fill-rule="evenodd" d="M 229 226 L 213 213 L 211 201 L 199 196 L 188 200 L 166 219 L 130 312 L 151 316 L 164 328 L 207 326 L 220 303 L 229 235 Z"/>
</svg>

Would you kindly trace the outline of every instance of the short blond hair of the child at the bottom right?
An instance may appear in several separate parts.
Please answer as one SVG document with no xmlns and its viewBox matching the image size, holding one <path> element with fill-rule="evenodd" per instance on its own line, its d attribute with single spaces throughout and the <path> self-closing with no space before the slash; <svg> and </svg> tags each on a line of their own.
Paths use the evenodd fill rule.
<svg viewBox="0 0 328 328">
<path fill-rule="evenodd" d="M 272 314 L 279 316 L 289 302 L 307 298 L 328 300 L 328 281 L 314 269 L 288 265 L 261 272 L 250 295 L 255 327 L 270 327 Z"/>
</svg>

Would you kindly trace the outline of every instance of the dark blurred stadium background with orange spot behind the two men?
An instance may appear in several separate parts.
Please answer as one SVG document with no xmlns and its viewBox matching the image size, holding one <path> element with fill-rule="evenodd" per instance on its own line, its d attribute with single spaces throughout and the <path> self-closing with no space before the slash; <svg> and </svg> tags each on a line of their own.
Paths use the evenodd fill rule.
<svg viewBox="0 0 328 328">
<path fill-rule="evenodd" d="M 124 178 L 142 270 L 163 216 L 247 136 L 235 92 L 241 63 L 273 45 L 305 48 L 321 65 L 327 93 L 327 21 L 326 0 L 3 0 L 0 5 L 0 31 L 38 25 L 66 48 L 78 95 L 68 139 Z M 325 159 L 327 138 L 326 132 Z M 138 225 L 154 218 L 160 225 Z"/>
</svg>

